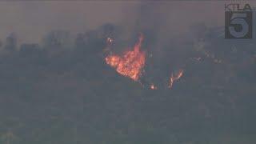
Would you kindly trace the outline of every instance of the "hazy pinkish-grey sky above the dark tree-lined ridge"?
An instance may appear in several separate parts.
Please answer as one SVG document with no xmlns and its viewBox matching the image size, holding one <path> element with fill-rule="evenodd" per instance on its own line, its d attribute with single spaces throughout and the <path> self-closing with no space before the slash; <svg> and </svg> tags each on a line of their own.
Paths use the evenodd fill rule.
<svg viewBox="0 0 256 144">
<path fill-rule="evenodd" d="M 142 5 L 148 10 L 141 14 Z M 223 26 L 224 2 L 0 2 L 0 18 L 0 38 L 14 32 L 19 42 L 40 42 L 50 30 L 75 34 L 106 22 L 130 29 L 138 19 L 159 26 L 160 32 L 178 34 L 197 22 Z"/>
</svg>

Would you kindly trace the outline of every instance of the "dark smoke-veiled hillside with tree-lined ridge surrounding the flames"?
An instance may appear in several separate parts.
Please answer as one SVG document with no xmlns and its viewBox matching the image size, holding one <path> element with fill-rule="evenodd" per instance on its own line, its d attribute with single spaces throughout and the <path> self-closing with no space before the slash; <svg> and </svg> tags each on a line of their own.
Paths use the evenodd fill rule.
<svg viewBox="0 0 256 144">
<path fill-rule="evenodd" d="M 141 30 L 142 83 L 159 90 L 106 66 L 106 38 L 117 53 L 137 39 L 122 39 L 118 26 L 77 34 L 74 44 L 62 30 L 21 46 L 11 34 L 0 45 L 0 143 L 228 143 L 223 134 L 255 142 L 255 42 L 226 42 L 220 29 L 194 26 L 186 42 L 166 44 L 161 59 L 154 30 Z M 184 75 L 166 89 L 179 69 Z"/>
</svg>

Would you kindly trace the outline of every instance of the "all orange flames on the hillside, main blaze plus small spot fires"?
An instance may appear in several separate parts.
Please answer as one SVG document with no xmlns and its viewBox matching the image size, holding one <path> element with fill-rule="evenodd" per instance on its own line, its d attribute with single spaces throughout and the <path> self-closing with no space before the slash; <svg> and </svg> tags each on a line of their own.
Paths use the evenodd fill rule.
<svg viewBox="0 0 256 144">
<path fill-rule="evenodd" d="M 143 39 L 143 34 L 140 34 L 138 42 L 134 45 L 134 47 L 131 50 L 127 50 L 120 55 L 113 54 L 111 52 L 105 58 L 106 64 L 113 67 L 119 74 L 138 82 L 142 76 L 143 68 L 146 65 L 146 52 L 142 50 Z M 107 44 L 110 44 L 112 42 L 113 38 L 106 39 Z M 181 78 L 182 74 L 183 70 L 178 70 L 177 74 L 171 74 L 166 87 L 171 88 L 174 81 L 177 81 L 179 78 Z M 142 83 L 143 86 L 144 84 L 145 83 Z M 158 87 L 155 86 L 155 84 L 153 83 L 149 85 L 149 88 L 151 90 L 158 90 Z"/>
</svg>

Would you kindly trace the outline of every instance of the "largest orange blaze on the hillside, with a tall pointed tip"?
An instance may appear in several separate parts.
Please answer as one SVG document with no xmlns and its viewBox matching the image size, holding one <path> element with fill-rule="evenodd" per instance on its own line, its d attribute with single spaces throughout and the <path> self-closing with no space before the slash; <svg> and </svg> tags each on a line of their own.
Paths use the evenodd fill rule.
<svg viewBox="0 0 256 144">
<path fill-rule="evenodd" d="M 115 54 L 109 55 L 105 58 L 106 63 L 114 67 L 119 74 L 132 78 L 134 81 L 138 81 L 146 60 L 145 52 L 140 50 L 142 41 L 143 36 L 141 34 L 133 50 L 126 51 L 120 56 Z"/>
</svg>

